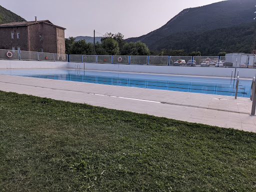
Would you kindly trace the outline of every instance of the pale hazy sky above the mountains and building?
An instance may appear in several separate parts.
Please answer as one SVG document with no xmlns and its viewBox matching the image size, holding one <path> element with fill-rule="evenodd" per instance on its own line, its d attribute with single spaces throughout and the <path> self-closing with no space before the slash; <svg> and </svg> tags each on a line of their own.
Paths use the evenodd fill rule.
<svg viewBox="0 0 256 192">
<path fill-rule="evenodd" d="M 50 20 L 68 36 L 102 36 L 120 32 L 124 38 L 146 34 L 164 25 L 184 8 L 221 0 L 0 0 L 0 5 L 27 21 Z M 101 33 L 101 34 L 100 34 Z"/>
</svg>

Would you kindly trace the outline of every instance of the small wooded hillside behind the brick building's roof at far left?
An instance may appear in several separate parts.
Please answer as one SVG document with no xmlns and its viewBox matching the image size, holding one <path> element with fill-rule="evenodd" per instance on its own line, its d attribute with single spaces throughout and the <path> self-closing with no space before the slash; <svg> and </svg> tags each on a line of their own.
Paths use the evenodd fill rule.
<svg viewBox="0 0 256 192">
<path fill-rule="evenodd" d="M 0 5 L 0 24 L 17 21 L 25 21 L 25 19 Z"/>
</svg>

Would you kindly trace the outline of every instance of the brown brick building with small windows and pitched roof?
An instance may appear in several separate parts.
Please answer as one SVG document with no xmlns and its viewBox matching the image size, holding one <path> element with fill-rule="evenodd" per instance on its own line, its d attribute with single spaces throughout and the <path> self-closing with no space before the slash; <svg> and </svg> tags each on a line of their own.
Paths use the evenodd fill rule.
<svg viewBox="0 0 256 192">
<path fill-rule="evenodd" d="M 65 28 L 49 20 L 0 24 L 0 48 L 65 53 Z"/>
</svg>

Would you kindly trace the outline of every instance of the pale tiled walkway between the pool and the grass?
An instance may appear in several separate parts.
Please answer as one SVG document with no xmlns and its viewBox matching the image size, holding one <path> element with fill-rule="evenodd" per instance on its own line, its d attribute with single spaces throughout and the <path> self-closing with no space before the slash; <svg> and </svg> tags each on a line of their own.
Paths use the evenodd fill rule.
<svg viewBox="0 0 256 192">
<path fill-rule="evenodd" d="M 249 98 L 2 74 L 0 90 L 256 132 Z"/>
</svg>

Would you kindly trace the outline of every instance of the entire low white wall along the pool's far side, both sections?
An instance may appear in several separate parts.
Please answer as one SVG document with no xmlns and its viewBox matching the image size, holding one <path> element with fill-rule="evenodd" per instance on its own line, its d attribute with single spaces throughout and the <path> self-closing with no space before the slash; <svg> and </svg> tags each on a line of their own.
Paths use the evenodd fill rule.
<svg viewBox="0 0 256 192">
<path fill-rule="evenodd" d="M 162 65 L 134 65 L 134 64 L 103 64 L 79 63 L 58 61 L 32 61 L 32 60 L 0 60 L 0 68 L 80 68 L 87 70 L 113 70 L 126 72 L 151 72 L 166 74 L 231 76 L 233 67 L 199 67 L 199 66 L 162 66 Z M 237 68 L 239 77 L 252 78 L 256 75 L 256 68 Z"/>
</svg>

